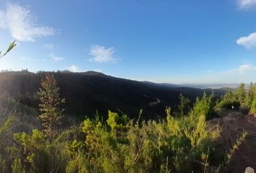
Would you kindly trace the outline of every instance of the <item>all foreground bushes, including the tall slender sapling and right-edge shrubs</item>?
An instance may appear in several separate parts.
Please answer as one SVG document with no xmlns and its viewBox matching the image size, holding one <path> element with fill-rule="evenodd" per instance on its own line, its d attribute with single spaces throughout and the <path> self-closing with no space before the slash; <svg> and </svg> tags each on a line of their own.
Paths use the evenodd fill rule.
<svg viewBox="0 0 256 173">
<path fill-rule="evenodd" d="M 64 100 L 54 77 L 46 76 L 38 93 L 42 128 L 14 133 L 12 117 L 0 124 L 0 172 L 221 172 L 227 161 L 214 145 L 221 128 L 206 120 L 234 98 L 256 110 L 255 87 L 245 92 L 241 86 L 219 102 L 204 94 L 191 109 L 181 95 L 178 112 L 166 107 L 163 120 L 109 111 L 106 121 L 95 115 L 63 130 Z"/>
</svg>

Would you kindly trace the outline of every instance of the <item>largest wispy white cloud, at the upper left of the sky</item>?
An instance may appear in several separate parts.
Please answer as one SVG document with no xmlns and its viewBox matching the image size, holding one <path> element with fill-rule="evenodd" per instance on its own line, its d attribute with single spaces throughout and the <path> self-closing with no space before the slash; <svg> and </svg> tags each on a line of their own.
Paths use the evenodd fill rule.
<svg viewBox="0 0 256 173">
<path fill-rule="evenodd" d="M 52 27 L 38 27 L 36 17 L 25 6 L 8 4 L 0 11 L 0 27 L 9 30 L 14 39 L 24 42 L 35 41 L 36 37 L 54 35 Z"/>
</svg>

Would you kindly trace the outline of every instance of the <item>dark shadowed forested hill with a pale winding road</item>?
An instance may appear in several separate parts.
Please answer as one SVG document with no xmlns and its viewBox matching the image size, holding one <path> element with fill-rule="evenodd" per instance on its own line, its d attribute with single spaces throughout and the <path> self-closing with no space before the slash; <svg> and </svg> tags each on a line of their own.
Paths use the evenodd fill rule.
<svg viewBox="0 0 256 173">
<path fill-rule="evenodd" d="M 163 115 L 166 106 L 176 107 L 179 104 L 179 94 L 194 100 L 203 92 L 211 89 L 193 89 L 181 86 L 161 86 L 158 84 L 119 79 L 102 73 L 87 71 L 72 73 L 69 71 L 38 72 L 4 71 L 0 73 L 0 92 L 8 92 L 23 105 L 38 107 L 36 92 L 40 88 L 40 80 L 46 73 L 54 74 L 60 88 L 62 98 L 66 99 L 65 113 L 72 116 L 88 117 L 95 115 L 106 116 L 108 110 L 124 112 L 131 117 L 146 112 L 145 119 Z M 215 89 L 220 96 L 225 89 Z M 160 101 L 160 102 L 159 102 Z"/>
</svg>

